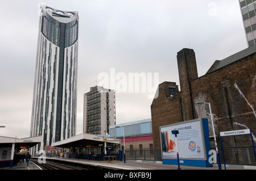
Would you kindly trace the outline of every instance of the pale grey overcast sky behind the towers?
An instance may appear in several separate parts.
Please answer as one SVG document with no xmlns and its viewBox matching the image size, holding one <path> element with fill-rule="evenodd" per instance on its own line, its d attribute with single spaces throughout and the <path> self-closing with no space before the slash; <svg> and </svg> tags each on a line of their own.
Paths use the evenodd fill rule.
<svg viewBox="0 0 256 181">
<path fill-rule="evenodd" d="M 247 48 L 238 0 L 1 1 L 1 136 L 30 136 L 40 2 L 79 12 L 77 134 L 83 95 L 98 74 L 159 73 L 159 83 L 179 85 L 181 49 L 195 50 L 201 76 L 215 60 Z M 117 124 L 150 118 L 151 103 L 147 93 L 117 92 Z"/>
</svg>

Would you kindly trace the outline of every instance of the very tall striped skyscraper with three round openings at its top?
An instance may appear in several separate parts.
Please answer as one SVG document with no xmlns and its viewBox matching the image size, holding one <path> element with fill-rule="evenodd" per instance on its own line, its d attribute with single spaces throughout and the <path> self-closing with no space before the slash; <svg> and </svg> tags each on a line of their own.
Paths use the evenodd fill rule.
<svg viewBox="0 0 256 181">
<path fill-rule="evenodd" d="M 76 135 L 79 16 L 41 7 L 31 135 L 42 136 L 37 150 Z"/>
</svg>

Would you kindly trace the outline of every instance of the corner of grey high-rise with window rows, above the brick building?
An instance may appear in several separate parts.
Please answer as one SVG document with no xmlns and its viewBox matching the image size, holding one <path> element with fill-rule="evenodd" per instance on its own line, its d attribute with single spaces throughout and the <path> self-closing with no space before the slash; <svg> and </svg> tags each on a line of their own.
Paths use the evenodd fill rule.
<svg viewBox="0 0 256 181">
<path fill-rule="evenodd" d="M 238 0 L 240 2 L 243 26 L 245 27 L 248 47 L 256 44 L 256 1 Z"/>
</svg>

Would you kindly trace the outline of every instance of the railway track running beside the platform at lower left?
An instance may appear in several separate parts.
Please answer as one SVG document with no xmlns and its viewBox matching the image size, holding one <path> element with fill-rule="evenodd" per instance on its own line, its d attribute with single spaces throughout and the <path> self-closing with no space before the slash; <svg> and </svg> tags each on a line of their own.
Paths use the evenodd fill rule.
<svg viewBox="0 0 256 181">
<path fill-rule="evenodd" d="M 43 170 L 87 170 L 77 166 L 71 166 L 63 163 L 54 163 L 46 161 L 46 163 L 39 163 L 37 159 L 31 159 L 36 165 L 40 166 Z"/>
</svg>

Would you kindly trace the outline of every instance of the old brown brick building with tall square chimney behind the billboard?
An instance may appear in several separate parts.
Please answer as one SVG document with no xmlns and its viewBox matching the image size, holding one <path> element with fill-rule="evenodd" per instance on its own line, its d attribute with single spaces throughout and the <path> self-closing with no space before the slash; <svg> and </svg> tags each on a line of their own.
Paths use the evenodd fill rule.
<svg viewBox="0 0 256 181">
<path fill-rule="evenodd" d="M 159 85 L 158 98 L 151 104 L 154 148 L 160 148 L 160 126 L 199 117 L 209 119 L 208 104 L 196 102 L 211 104 L 217 140 L 222 131 L 251 129 L 253 136 L 256 134 L 256 45 L 215 61 L 201 77 L 197 75 L 193 49 L 180 50 L 177 65 L 180 91 L 175 82 L 163 82 Z M 209 134 L 213 137 L 211 124 Z M 245 141 L 251 145 L 248 136 L 230 139 L 234 145 Z"/>
</svg>

